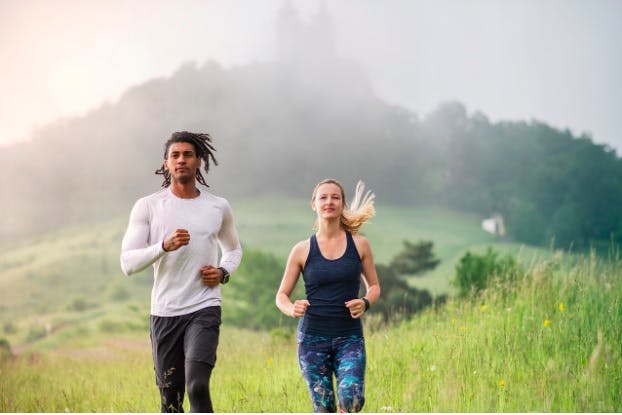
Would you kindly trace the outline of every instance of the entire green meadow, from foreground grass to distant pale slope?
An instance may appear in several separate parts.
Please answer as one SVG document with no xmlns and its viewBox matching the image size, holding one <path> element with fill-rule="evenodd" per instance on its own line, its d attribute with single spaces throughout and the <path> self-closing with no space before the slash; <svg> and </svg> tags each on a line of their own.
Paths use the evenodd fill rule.
<svg viewBox="0 0 622 415">
<path fill-rule="evenodd" d="M 311 232 L 304 200 L 232 204 L 245 247 L 283 262 Z M 435 243 L 441 265 L 412 277 L 413 285 L 451 294 L 458 259 L 488 246 L 515 255 L 524 271 L 408 321 L 365 317 L 364 412 L 622 411 L 617 253 L 602 258 L 507 243 L 481 231 L 482 218 L 435 207 L 377 210 L 364 228 L 377 262 L 388 262 L 405 239 Z M 0 411 L 159 410 L 149 272 L 127 278 L 118 269 L 125 221 L 2 247 L 0 338 L 12 353 L 0 355 Z M 227 297 L 235 293 L 224 295 L 227 313 Z M 212 378 L 216 411 L 311 411 L 289 327 L 268 332 L 223 325 Z"/>
</svg>

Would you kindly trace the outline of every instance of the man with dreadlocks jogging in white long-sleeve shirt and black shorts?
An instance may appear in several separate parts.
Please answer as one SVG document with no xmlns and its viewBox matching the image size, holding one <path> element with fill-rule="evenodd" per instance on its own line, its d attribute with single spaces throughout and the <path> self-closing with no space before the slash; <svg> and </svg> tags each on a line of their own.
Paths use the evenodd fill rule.
<svg viewBox="0 0 622 415">
<path fill-rule="evenodd" d="M 162 189 L 139 199 L 121 247 L 130 275 L 153 265 L 151 344 L 162 412 L 213 412 L 209 380 L 221 323 L 220 285 L 240 265 L 242 248 L 227 200 L 207 186 L 214 147 L 208 134 L 176 132 L 164 145 Z M 218 248 L 222 251 L 218 263 Z"/>
</svg>

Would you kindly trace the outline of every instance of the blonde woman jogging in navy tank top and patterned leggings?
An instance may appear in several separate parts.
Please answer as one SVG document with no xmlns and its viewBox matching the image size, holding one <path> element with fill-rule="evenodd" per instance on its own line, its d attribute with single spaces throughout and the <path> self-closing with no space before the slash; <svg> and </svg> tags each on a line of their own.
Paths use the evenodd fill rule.
<svg viewBox="0 0 622 415">
<path fill-rule="evenodd" d="M 378 300 L 380 285 L 369 242 L 358 231 L 374 215 L 374 195 L 359 182 L 352 206 L 343 186 L 323 180 L 311 208 L 317 214 L 311 238 L 298 242 L 287 260 L 276 295 L 278 308 L 298 322 L 298 361 L 315 412 L 335 412 L 333 376 L 340 412 L 358 412 L 365 403 L 365 341 L 360 317 Z M 290 296 L 300 273 L 306 299 Z M 358 293 L 361 277 L 367 288 Z"/>
</svg>

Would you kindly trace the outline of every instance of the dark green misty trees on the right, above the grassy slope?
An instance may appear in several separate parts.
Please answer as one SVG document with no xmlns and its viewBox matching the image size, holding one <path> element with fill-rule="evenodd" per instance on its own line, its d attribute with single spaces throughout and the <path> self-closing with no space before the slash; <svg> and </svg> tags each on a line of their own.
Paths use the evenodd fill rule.
<svg viewBox="0 0 622 415">
<path fill-rule="evenodd" d="M 622 159 L 585 135 L 541 122 L 492 124 L 448 104 L 424 123 L 444 182 L 435 197 L 481 214 L 500 213 L 518 241 L 561 248 L 622 242 Z"/>
</svg>

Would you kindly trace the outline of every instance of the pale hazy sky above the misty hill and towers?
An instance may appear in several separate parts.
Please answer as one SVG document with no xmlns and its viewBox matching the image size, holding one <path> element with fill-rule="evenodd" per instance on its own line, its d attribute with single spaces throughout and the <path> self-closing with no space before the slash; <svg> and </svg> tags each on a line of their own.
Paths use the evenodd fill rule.
<svg viewBox="0 0 622 415">
<path fill-rule="evenodd" d="M 0 0 L 0 145 L 114 103 L 183 62 L 275 53 L 284 0 Z M 622 153 L 622 0 L 323 3 L 337 51 L 420 116 L 449 100 L 491 121 L 538 119 Z"/>
</svg>

